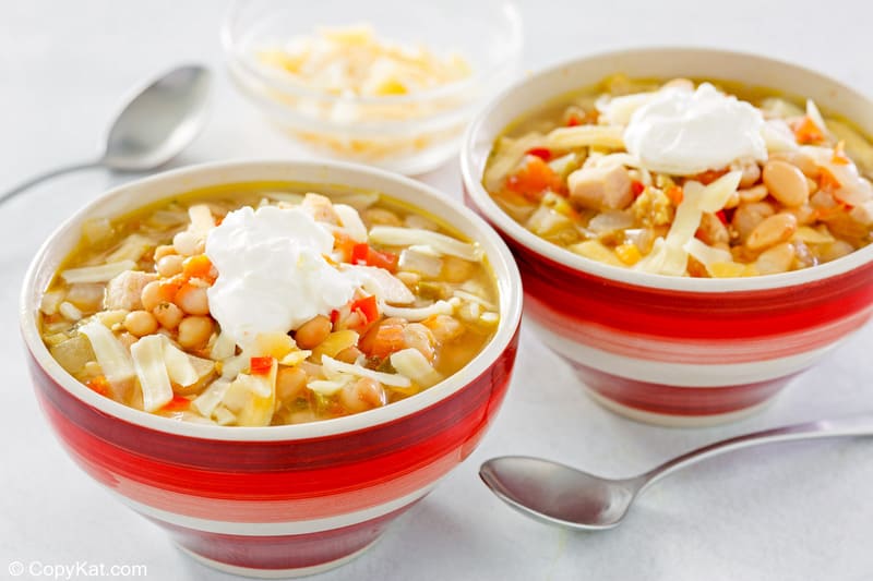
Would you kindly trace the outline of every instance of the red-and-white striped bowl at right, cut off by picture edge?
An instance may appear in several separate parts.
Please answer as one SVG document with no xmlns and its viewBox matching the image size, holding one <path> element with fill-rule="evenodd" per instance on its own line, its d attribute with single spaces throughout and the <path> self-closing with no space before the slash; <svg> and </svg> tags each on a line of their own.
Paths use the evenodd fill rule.
<svg viewBox="0 0 873 581">
<path fill-rule="evenodd" d="M 467 203 L 506 240 L 528 323 L 570 361 L 591 396 L 624 415 L 668 425 L 737 419 L 767 402 L 871 316 L 873 245 L 805 270 L 692 279 L 591 262 L 539 239 L 481 184 L 491 145 L 521 116 L 612 73 L 731 80 L 803 95 L 873 134 L 873 104 L 815 72 L 721 50 L 638 49 L 536 74 L 492 101 L 467 131 Z"/>
</svg>

